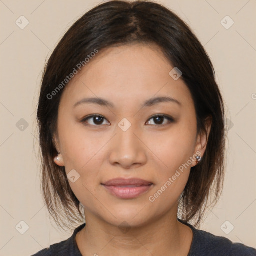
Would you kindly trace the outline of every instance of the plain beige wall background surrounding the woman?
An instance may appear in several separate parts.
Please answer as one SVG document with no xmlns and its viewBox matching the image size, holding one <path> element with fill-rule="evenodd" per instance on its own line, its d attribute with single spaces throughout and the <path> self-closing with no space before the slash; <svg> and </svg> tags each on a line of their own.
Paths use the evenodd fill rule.
<svg viewBox="0 0 256 256">
<path fill-rule="evenodd" d="M 201 229 L 256 247 L 256 1 L 159 2 L 183 18 L 205 46 L 228 108 L 224 190 Z M 99 3 L 0 0 L 0 255 L 31 255 L 71 235 L 55 229 L 42 202 L 35 109 L 45 59 L 67 28 Z M 24 29 L 15 24 L 21 15 L 29 21 Z M 226 15 L 234 21 L 229 29 L 220 23 Z M 15 229 L 21 220 L 29 226 L 24 234 Z M 234 226 L 229 234 L 220 228 L 226 220 L 223 230 Z"/>
</svg>

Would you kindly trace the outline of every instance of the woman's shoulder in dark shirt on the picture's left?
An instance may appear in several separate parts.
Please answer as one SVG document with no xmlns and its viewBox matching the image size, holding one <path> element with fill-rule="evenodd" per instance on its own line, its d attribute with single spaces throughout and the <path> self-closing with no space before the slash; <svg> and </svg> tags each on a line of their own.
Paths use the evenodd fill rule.
<svg viewBox="0 0 256 256">
<path fill-rule="evenodd" d="M 51 244 L 48 248 L 42 249 L 32 256 L 81 256 L 75 241 L 75 235 L 85 226 L 85 223 L 78 226 L 68 239 Z"/>
</svg>

